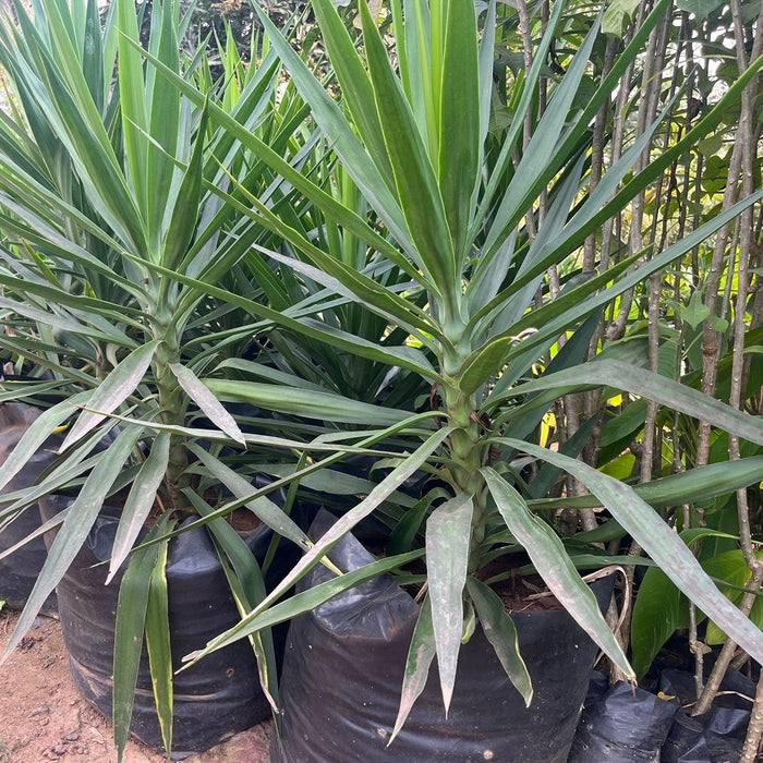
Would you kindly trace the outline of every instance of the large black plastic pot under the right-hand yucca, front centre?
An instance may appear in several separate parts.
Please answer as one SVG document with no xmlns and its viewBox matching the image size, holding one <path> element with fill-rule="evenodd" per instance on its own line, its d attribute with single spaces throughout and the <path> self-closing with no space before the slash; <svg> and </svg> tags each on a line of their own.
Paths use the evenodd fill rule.
<svg viewBox="0 0 763 763">
<path fill-rule="evenodd" d="M 323 534 L 332 518 L 318 516 Z M 373 557 L 352 536 L 331 553 L 342 569 Z M 317 567 L 302 588 L 330 572 Z M 602 606 L 611 585 L 597 584 Z M 419 606 L 389 577 L 368 581 L 295 619 L 281 678 L 283 763 L 445 761 L 562 763 L 572 742 L 596 646 L 565 611 L 512 615 L 535 697 L 525 708 L 481 629 L 461 650 L 445 717 L 436 669 L 402 731 L 387 747 Z"/>
</svg>

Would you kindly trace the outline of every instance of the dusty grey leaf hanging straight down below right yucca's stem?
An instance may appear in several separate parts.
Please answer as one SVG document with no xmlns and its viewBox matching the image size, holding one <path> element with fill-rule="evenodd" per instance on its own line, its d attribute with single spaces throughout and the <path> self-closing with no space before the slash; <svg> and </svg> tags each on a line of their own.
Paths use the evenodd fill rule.
<svg viewBox="0 0 763 763">
<path fill-rule="evenodd" d="M 473 510 L 472 496 L 460 494 L 438 506 L 426 521 L 426 570 L 446 717 L 463 634 L 463 588 Z"/>
</svg>

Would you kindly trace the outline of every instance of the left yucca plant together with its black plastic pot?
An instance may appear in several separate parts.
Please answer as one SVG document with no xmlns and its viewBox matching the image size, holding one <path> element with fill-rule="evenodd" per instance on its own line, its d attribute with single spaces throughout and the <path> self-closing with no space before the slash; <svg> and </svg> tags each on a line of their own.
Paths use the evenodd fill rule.
<svg viewBox="0 0 763 763">
<path fill-rule="evenodd" d="M 40 409 L 3 463 L 0 521 L 19 526 L 39 499 L 45 521 L 31 538 L 46 532 L 49 543 L 8 649 L 58 586 L 75 681 L 113 713 L 120 750 L 132 728 L 183 753 L 269 714 L 269 634 L 208 673 L 173 679 L 173 667 L 264 597 L 268 523 L 307 541 L 265 495 L 250 502 L 254 526 L 235 532 L 223 518 L 242 506 L 221 492 L 228 457 L 246 451 L 241 479 L 255 481 L 257 460 L 294 443 L 280 423 L 263 447 L 276 425 L 253 410 L 234 419 L 201 380 L 223 375 L 218 366 L 265 322 L 179 280 L 262 298 L 253 279 L 242 291 L 239 267 L 262 229 L 217 189 L 234 178 L 256 192 L 272 177 L 207 121 L 203 104 L 145 65 L 142 19 L 132 0 L 102 20 L 95 0 L 44 0 L 34 16 L 19 5 L 0 32 L 12 94 L 0 113 L 0 351 L 29 376 L 3 384 L 2 399 Z M 279 65 L 266 44 L 261 66 L 220 84 L 204 47 L 192 60 L 180 52 L 189 23 L 180 3 L 155 3 L 148 49 L 242 129 L 267 132 L 274 150 L 299 152 L 300 106 L 280 98 L 288 119 L 274 109 Z M 14 476 L 41 448 L 53 458 L 21 489 Z"/>
</svg>

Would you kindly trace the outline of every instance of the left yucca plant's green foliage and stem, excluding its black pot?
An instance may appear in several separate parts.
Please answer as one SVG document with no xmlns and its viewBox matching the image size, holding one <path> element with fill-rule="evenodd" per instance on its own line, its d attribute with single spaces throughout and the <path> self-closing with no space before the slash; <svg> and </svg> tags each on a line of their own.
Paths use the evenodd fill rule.
<svg viewBox="0 0 763 763">
<path fill-rule="evenodd" d="M 34 3 L 34 17 L 21 5 L 15 10 L 17 20 L 5 20 L 0 32 L 0 62 L 11 92 L 9 110 L 0 113 L 0 349 L 20 370 L 45 379 L 4 386 L 2 396 L 29 399 L 46 410 L 3 464 L 0 488 L 51 432 L 63 431 L 65 438 L 38 484 L 3 496 L 0 522 L 12 522 L 49 494 L 64 492 L 73 504 L 41 530 L 57 528 L 57 534 L 8 651 L 87 542 L 102 505 L 120 500 L 117 494 L 123 492 L 108 571 L 112 580 L 130 562 L 114 646 L 116 736 L 121 751 L 145 625 L 169 751 L 168 543 L 184 519 L 211 512 L 210 491 L 220 494 L 205 458 L 220 470 L 227 469 L 225 455 L 215 453 L 223 446 L 227 452 L 250 446 L 251 458 L 258 458 L 258 436 L 244 434 L 201 379 L 225 375 L 218 371 L 221 361 L 266 325 L 180 278 L 207 280 L 222 294 L 228 286 L 240 288 L 231 272 L 262 229 L 237 210 L 235 194 L 264 194 L 274 178 L 208 122 L 204 104 L 192 102 L 145 65 L 141 16 L 132 0 L 114 2 L 102 25 L 95 0 L 41 0 Z M 266 134 L 282 122 L 282 130 L 267 137 L 288 155 L 296 145 L 289 126 L 294 114 L 268 120 L 277 108 L 275 55 L 265 49 L 261 66 L 218 85 L 203 53 L 189 61 L 179 52 L 186 24 L 178 2 L 155 3 L 150 53 L 177 76 L 196 76 L 208 86 L 207 100 L 219 102 L 242 129 Z M 232 95 L 231 87 L 237 87 Z M 237 190 L 226 198 L 218 189 L 231 181 Z M 245 293 L 262 299 L 252 280 Z M 283 436 L 282 424 L 279 434 L 259 458 L 272 460 L 279 443 L 300 444 Z M 263 574 L 222 519 L 237 508 L 229 504 L 205 521 L 235 601 L 245 607 L 264 596 Z M 256 507 L 269 523 L 306 544 L 267 497 Z M 133 554 L 152 512 L 153 545 Z M 269 637 L 253 643 L 263 681 L 275 697 Z"/>
</svg>

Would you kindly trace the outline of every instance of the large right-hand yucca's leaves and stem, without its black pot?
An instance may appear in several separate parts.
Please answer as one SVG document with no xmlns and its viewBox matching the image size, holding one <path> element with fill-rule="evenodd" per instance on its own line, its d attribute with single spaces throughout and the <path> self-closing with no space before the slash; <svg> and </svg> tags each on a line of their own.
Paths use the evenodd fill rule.
<svg viewBox="0 0 763 763">
<path fill-rule="evenodd" d="M 586 485 L 596 505 L 606 507 L 689 598 L 703 611 L 713 613 L 714 620 L 724 622 L 731 638 L 760 659 L 760 631 L 730 605 L 653 508 L 701 495 L 707 489 L 705 477 L 716 481 L 717 470 L 712 476 L 698 470 L 633 489 L 577 460 L 579 448 L 557 452 L 541 447 L 532 437 L 554 399 L 600 388 L 627 390 L 713 421 L 752 441 L 763 441 L 759 421 L 638 365 L 617 356 L 581 362 L 593 335 L 592 325 L 605 305 L 689 252 L 738 214 L 740 206 L 654 253 L 638 268 L 631 259 L 602 274 L 574 270 L 574 256 L 584 239 L 717 125 L 725 104 L 736 97 L 753 69 L 717 108 L 645 170 L 632 173 L 635 158 L 666 112 L 594 190 L 585 190 L 593 117 L 613 97 L 618 77 L 667 12 L 666 2 L 656 4 L 611 72 L 581 105 L 579 92 L 598 34 L 598 25 L 594 25 L 564 76 L 553 84 L 548 108 L 541 113 L 533 93 L 562 17 L 564 3 L 557 3 L 530 75 L 511 94 L 511 122 L 499 135 L 489 134 L 495 3 L 485 11 L 481 31 L 471 0 L 393 0 L 390 7 L 391 32 L 383 32 L 366 2 L 360 0 L 362 40 L 356 44 L 330 0 L 314 0 L 340 99 L 323 86 L 261 14 L 291 81 L 312 109 L 341 172 L 359 190 L 362 204 L 356 199 L 346 204 L 327 193 L 324 185 L 298 172 L 222 110 L 213 106 L 209 117 L 281 174 L 301 198 L 317 207 L 326 230 L 339 230 L 362 242 L 360 264 L 332 256 L 325 245 L 329 239 L 325 230 L 301 229 L 293 215 L 249 195 L 252 219 L 290 244 L 289 252 L 268 253 L 283 279 L 324 287 L 336 300 L 380 317 L 385 330 L 376 338 L 361 337 L 330 322 L 270 317 L 305 340 L 318 340 L 417 375 L 432 390 L 432 407 L 388 429 L 389 435 L 408 437 L 408 447 L 398 453 L 391 473 L 343 513 L 240 626 L 195 656 L 306 611 L 360 580 L 410 559 L 410 555 L 387 558 L 277 603 L 344 533 L 374 512 L 415 470 L 424 469 L 446 486 L 446 495 L 441 489 L 433 493 L 438 497 L 426 508 L 422 524 L 425 542 L 419 553 L 426 560 L 426 596 L 411 643 L 396 732 L 423 689 L 435 655 L 447 710 L 460 645 L 476 619 L 530 703 L 532 687 L 517 653 L 511 619 L 485 583 L 484 572 L 488 564 L 517 547 L 524 549 L 572 617 L 625 675 L 632 677 L 621 646 L 557 532 L 533 510 L 533 506 L 549 506 L 533 501 L 543 498 L 537 494 L 540 485 L 534 494 L 533 486 L 524 486 L 511 468 L 514 455 L 522 452 Z M 201 94 L 148 58 L 160 75 L 202 102 Z M 525 122 L 532 130 L 523 143 Z M 747 203 L 760 197 L 759 193 Z M 541 198 L 543 214 L 538 211 Z M 378 271 L 395 269 L 395 287 L 373 277 L 368 263 Z M 573 277 L 550 299 L 545 274 L 553 266 L 571 268 Z M 400 288 L 403 282 L 404 288 Z M 259 308 L 251 305 L 251 310 Z M 388 344 L 389 332 L 400 330 L 407 341 Z M 540 359 L 555 347 L 559 336 L 567 338 L 565 349 L 546 373 L 537 373 Z M 240 393 L 240 399 L 245 399 L 244 387 Z M 348 397 L 347 410 L 355 405 L 356 400 Z M 732 489 L 761 477 L 756 460 L 729 467 L 723 486 L 716 483 L 716 488 Z M 564 501 L 552 504 L 561 505 Z"/>
</svg>

